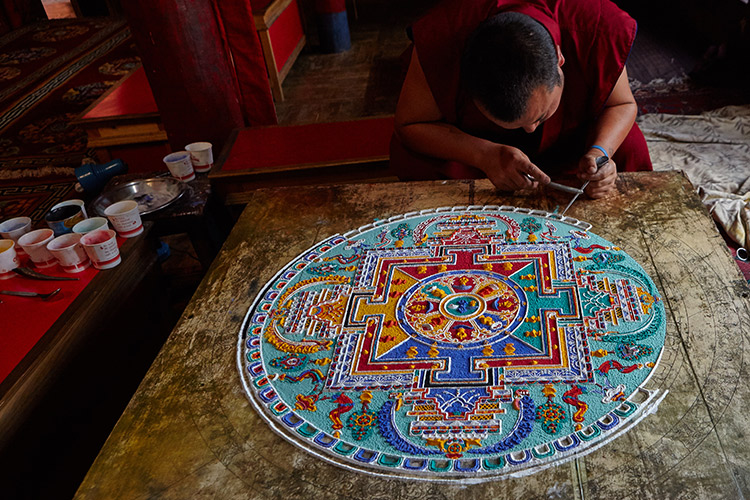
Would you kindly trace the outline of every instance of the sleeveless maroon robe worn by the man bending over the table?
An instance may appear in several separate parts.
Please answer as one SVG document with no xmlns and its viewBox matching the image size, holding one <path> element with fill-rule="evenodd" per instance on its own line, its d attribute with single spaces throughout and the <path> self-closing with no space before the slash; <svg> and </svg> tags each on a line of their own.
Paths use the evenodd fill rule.
<svg viewBox="0 0 750 500">
<path fill-rule="evenodd" d="M 503 129 L 482 115 L 461 87 L 461 54 L 469 35 L 499 12 L 539 21 L 560 46 L 565 76 L 560 106 L 532 133 Z M 636 22 L 609 0 L 447 0 L 412 26 L 414 46 L 444 120 L 471 135 L 515 146 L 550 174 L 573 170 L 591 146 L 594 123 L 625 67 Z M 637 125 L 613 157 L 620 171 L 651 170 Z M 391 165 L 403 179 L 477 178 L 477 168 L 418 155 L 398 139 Z"/>
</svg>

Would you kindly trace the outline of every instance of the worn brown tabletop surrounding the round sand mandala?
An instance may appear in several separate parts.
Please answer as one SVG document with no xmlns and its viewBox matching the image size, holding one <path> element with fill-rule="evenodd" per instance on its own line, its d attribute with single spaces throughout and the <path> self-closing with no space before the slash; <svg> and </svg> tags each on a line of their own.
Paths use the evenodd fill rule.
<svg viewBox="0 0 750 500">
<path fill-rule="evenodd" d="M 569 215 L 654 279 L 667 339 L 654 415 L 602 448 L 524 478 L 480 484 L 382 479 L 339 469 L 274 434 L 236 366 L 240 327 L 283 265 L 335 233 L 412 210 L 565 206 L 557 192 L 501 196 L 488 181 L 260 189 L 82 483 L 114 498 L 747 498 L 750 291 L 679 173 L 623 174 L 619 194 Z"/>
</svg>

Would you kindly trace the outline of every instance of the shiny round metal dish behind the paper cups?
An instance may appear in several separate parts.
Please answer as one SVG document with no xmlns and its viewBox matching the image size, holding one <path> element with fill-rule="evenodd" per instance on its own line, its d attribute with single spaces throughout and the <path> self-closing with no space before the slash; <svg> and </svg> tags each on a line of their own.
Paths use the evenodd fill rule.
<svg viewBox="0 0 750 500">
<path fill-rule="evenodd" d="M 91 203 L 94 212 L 104 217 L 104 210 L 113 203 L 135 200 L 141 215 L 154 213 L 165 208 L 182 196 L 187 190 L 184 182 L 174 177 L 139 179 L 115 186 L 105 191 Z"/>
</svg>

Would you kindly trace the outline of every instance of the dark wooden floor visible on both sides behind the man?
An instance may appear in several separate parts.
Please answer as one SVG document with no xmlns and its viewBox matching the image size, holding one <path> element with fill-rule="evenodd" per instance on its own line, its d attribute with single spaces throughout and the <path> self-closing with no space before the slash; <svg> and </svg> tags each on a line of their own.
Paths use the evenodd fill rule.
<svg viewBox="0 0 750 500">
<path fill-rule="evenodd" d="M 282 87 L 285 100 L 276 103 L 279 123 L 346 120 L 395 112 L 409 46 L 406 27 L 436 0 L 358 0 L 355 18 L 349 9 L 352 49 L 323 54 L 312 36 Z M 640 21 L 640 20 L 639 20 Z M 640 22 L 628 63 L 633 79 L 646 83 L 689 73 L 706 46 L 684 34 Z"/>
</svg>

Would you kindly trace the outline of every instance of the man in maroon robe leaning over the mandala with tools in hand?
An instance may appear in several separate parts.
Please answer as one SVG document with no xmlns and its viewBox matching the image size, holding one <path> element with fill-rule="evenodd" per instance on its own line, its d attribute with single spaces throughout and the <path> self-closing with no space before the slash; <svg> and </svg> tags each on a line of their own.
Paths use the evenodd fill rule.
<svg viewBox="0 0 750 500">
<path fill-rule="evenodd" d="M 609 0 L 442 2 L 411 27 L 392 167 L 507 191 L 575 174 L 606 196 L 618 170 L 652 170 L 625 69 L 635 33 Z"/>
</svg>

